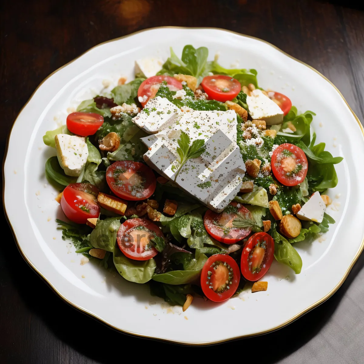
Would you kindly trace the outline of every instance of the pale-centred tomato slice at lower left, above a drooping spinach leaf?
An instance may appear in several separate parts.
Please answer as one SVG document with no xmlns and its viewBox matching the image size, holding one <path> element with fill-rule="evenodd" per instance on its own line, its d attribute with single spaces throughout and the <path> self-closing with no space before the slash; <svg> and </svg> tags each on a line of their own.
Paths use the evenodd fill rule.
<svg viewBox="0 0 364 364">
<path fill-rule="evenodd" d="M 126 257 L 134 260 L 148 260 L 158 253 L 157 249 L 148 246 L 155 237 L 164 239 L 161 229 L 153 222 L 145 219 L 130 219 L 120 225 L 116 240 Z"/>
</svg>

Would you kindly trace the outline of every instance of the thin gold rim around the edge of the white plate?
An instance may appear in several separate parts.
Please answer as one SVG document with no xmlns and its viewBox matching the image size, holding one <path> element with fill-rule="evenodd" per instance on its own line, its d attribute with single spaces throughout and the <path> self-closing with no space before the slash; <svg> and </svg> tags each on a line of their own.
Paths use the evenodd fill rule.
<svg viewBox="0 0 364 364">
<path fill-rule="evenodd" d="M 8 147 L 9 147 L 9 140 L 10 140 L 10 135 L 11 135 L 11 132 L 13 130 L 13 127 L 21 113 L 21 111 L 23 111 L 24 107 L 27 106 L 28 102 L 32 99 L 33 95 L 35 94 L 35 92 L 39 89 L 39 87 L 48 79 L 50 78 L 52 75 L 54 75 L 56 72 L 58 72 L 59 70 L 61 70 L 62 68 L 68 66 L 69 64 L 71 64 L 72 62 L 74 62 L 76 59 L 80 58 L 81 56 L 83 56 L 84 54 L 86 54 L 88 51 L 96 48 L 96 47 L 99 47 L 101 46 L 102 44 L 106 44 L 106 43 L 110 43 L 112 41 L 115 41 L 115 40 L 119 40 L 119 39 L 123 39 L 123 38 L 126 38 L 126 37 L 130 37 L 130 36 L 133 36 L 135 34 L 138 34 L 138 33 L 142 33 L 142 32 L 147 32 L 147 31 L 150 31 L 150 30 L 153 30 L 153 29 L 213 29 L 213 30 L 221 30 L 221 31 L 224 31 L 224 32 L 229 32 L 229 33 L 233 33 L 233 34 L 236 34 L 236 35 L 239 35 L 239 36 L 243 36 L 243 37 L 246 37 L 246 38 L 251 38 L 251 39 L 255 39 L 255 40 L 258 40 L 258 41 L 261 41 L 263 43 L 266 43 L 266 44 L 269 44 L 269 46 L 273 47 L 274 49 L 276 49 L 277 51 L 281 52 L 282 54 L 288 56 L 289 58 L 295 60 L 296 62 L 298 63 L 301 63 L 303 64 L 304 66 L 310 68 L 312 71 L 316 72 L 318 75 L 320 75 L 323 79 L 325 79 L 328 83 L 331 84 L 331 86 L 333 86 L 335 88 L 335 90 L 337 91 L 337 93 L 341 96 L 341 98 L 344 100 L 345 104 L 347 105 L 347 107 L 349 108 L 349 110 L 352 112 L 355 120 L 357 121 L 357 123 L 359 124 L 359 127 L 360 127 L 360 130 L 363 134 L 363 137 L 364 137 L 364 128 L 362 126 L 362 124 L 360 123 L 360 120 L 358 119 L 358 117 L 355 115 L 355 112 L 352 110 L 352 108 L 349 106 L 349 104 L 347 103 L 347 101 L 345 100 L 344 96 L 341 94 L 341 92 L 338 90 L 338 88 L 328 79 L 326 78 L 323 74 L 321 74 L 320 72 L 318 72 L 315 68 L 309 66 L 308 64 L 290 56 L 289 54 L 287 54 L 286 52 L 282 51 L 280 48 L 274 46 L 273 44 L 265 41 L 265 40 L 262 40 L 262 39 L 259 39 L 257 37 L 253 37 L 253 36 L 250 36 L 250 35 L 245 35 L 245 34 L 241 34 L 241 33 L 237 33 L 237 32 L 233 32 L 233 31 L 230 31 L 230 30 L 226 30 L 226 29 L 221 29 L 221 28 L 213 28 L 213 27 L 203 27 L 203 28 L 199 28 L 199 27 L 155 27 L 155 28 L 148 28 L 148 29 L 142 29 L 142 30 L 139 30 L 137 32 L 134 32 L 134 33 L 131 33 L 131 34 L 128 34 L 128 35 L 124 35 L 122 37 L 118 37 L 118 38 L 115 38 L 115 39 L 111 39 L 111 40 L 107 40 L 103 43 L 100 43 L 100 44 L 97 44 L 96 46 L 90 48 L 89 50 L 87 50 L 86 52 L 83 52 L 81 55 L 79 55 L 78 57 L 76 57 L 75 59 L 71 60 L 70 62 L 66 63 L 64 66 L 58 68 L 57 70 L 55 70 L 54 72 L 52 72 L 49 76 L 47 76 L 40 84 L 39 86 L 35 89 L 35 91 L 32 93 L 32 95 L 30 96 L 29 100 L 25 103 L 25 105 L 21 108 L 21 110 L 19 111 L 14 123 L 13 123 L 13 126 L 9 132 L 9 135 L 8 135 L 8 139 L 7 139 L 7 143 L 6 143 L 6 147 L 5 147 L 5 153 L 4 153 L 4 159 L 3 159 L 3 201 L 4 201 L 4 197 L 5 197 L 5 160 L 6 160 L 6 157 L 7 157 L 7 154 L 8 154 Z M 289 320 L 285 321 L 284 323 L 278 325 L 277 327 L 274 327 L 274 328 L 271 328 L 271 329 L 268 329 L 268 330 L 265 330 L 265 331 L 261 331 L 261 332 L 257 332 L 257 333 L 254 333 L 254 334 L 248 334 L 248 335 L 241 335 L 241 336 L 236 336 L 236 337 L 232 337 L 232 338 L 229 338 L 229 339 L 223 339 L 223 340 L 217 340 L 217 341 L 206 341 L 206 342 L 200 342 L 200 343 L 189 343 L 188 341 L 175 341 L 175 340 L 169 340 L 169 339 L 159 339 L 159 338 L 155 338 L 153 336 L 147 336 L 147 335 L 143 335 L 143 334 L 139 334 L 139 333 L 135 333 L 135 332 L 131 332 L 131 331 L 127 331 L 127 330 L 123 330 L 123 329 L 120 329 L 118 327 L 115 327 L 114 325 L 112 325 L 111 323 L 108 323 L 107 321 L 105 321 L 102 317 L 99 317 L 95 314 L 93 314 L 92 312 L 89 312 L 87 311 L 86 309 L 84 309 L 83 307 L 80 307 L 78 305 L 75 305 L 73 302 L 71 302 L 70 300 L 68 300 L 66 297 L 64 297 L 62 295 L 62 293 L 60 293 L 54 285 L 52 285 L 52 283 L 50 281 L 47 280 L 46 277 L 43 276 L 43 274 L 41 274 L 39 272 L 39 270 L 32 264 L 32 262 L 28 259 L 28 257 L 24 254 L 23 250 L 21 249 L 20 247 L 20 244 L 19 242 L 17 241 L 17 238 L 15 236 L 15 231 L 11 225 L 11 222 L 10 222 L 10 219 L 8 217 L 8 214 L 7 214 L 7 211 L 6 211 L 6 207 L 5 207 L 5 203 L 3 202 L 3 206 L 4 206 L 4 213 L 5 213 L 5 216 L 7 218 L 7 221 L 9 223 L 9 226 L 11 227 L 11 231 L 12 231 L 12 234 L 13 234 L 13 237 L 14 237 L 14 240 L 16 242 L 16 245 L 17 245 L 17 248 L 19 249 L 19 252 L 21 254 L 21 256 L 23 256 L 24 260 L 28 263 L 28 265 L 33 269 L 35 270 L 35 272 L 37 274 L 39 274 L 39 276 L 41 278 L 43 278 L 43 280 L 54 290 L 54 292 L 56 294 L 58 294 L 58 296 L 60 298 L 62 298 L 67 304 L 69 304 L 70 306 L 74 307 L 75 309 L 79 310 L 80 312 L 84 313 L 84 314 L 87 314 L 87 315 L 90 315 L 91 317 L 95 318 L 96 320 L 102 322 L 103 324 L 106 324 L 108 326 L 110 326 L 111 328 L 117 330 L 117 331 L 120 331 L 120 332 L 123 332 L 123 333 L 126 333 L 126 334 L 129 334 L 129 335 L 134 335 L 134 336 L 139 336 L 139 337 L 143 337 L 143 338 L 147 338 L 147 339 L 158 339 L 158 340 L 161 340 L 161 341 L 167 341 L 167 342 L 170 342 L 170 343 L 176 343 L 176 344 L 185 344 L 185 345 L 195 345 L 195 346 L 198 346 L 198 345 L 212 345 L 212 344 L 219 344 L 219 343 L 223 343 L 223 342 L 226 342 L 226 341 L 231 341 L 231 340 L 236 340 L 236 339 L 243 339 L 243 338 L 246 338 L 246 337 L 253 337 L 253 336 L 258 336 L 258 335 L 264 335 L 266 333 L 269 333 L 269 332 L 273 332 L 273 331 L 276 331 L 290 323 L 292 323 L 294 320 L 297 320 L 297 318 L 299 318 L 300 316 L 304 315 L 305 313 L 309 312 L 310 310 L 314 309 L 315 307 L 317 307 L 318 305 L 320 305 L 321 303 L 323 303 L 324 301 L 326 301 L 329 297 L 331 297 L 339 288 L 340 286 L 343 284 L 343 282 L 345 281 L 345 279 L 347 278 L 349 272 L 351 271 L 351 269 L 353 268 L 353 265 L 355 264 L 355 262 L 358 260 L 361 252 L 363 252 L 364 250 L 364 237 L 363 237 L 363 240 L 361 241 L 361 244 L 360 244 L 360 247 L 359 247 L 359 250 L 357 251 L 357 253 L 355 254 L 355 257 L 353 259 L 353 261 L 351 262 L 349 268 L 347 269 L 347 271 L 345 272 L 343 278 L 341 278 L 341 280 L 339 281 L 339 283 L 331 290 L 331 292 L 329 292 L 328 294 L 326 294 L 323 298 L 321 298 L 320 300 L 318 300 L 317 302 L 315 302 L 314 304 L 308 306 L 307 308 L 305 308 L 304 310 L 302 310 L 300 313 L 297 313 L 295 316 L 291 317 Z"/>
</svg>

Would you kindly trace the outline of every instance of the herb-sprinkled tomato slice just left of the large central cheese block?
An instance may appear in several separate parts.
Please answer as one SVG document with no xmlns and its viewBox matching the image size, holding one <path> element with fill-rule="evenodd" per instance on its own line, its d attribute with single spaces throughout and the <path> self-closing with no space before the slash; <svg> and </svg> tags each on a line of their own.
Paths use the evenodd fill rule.
<svg viewBox="0 0 364 364">
<path fill-rule="evenodd" d="M 141 162 L 116 161 L 106 170 L 106 181 L 116 196 L 126 200 L 144 200 L 155 191 L 153 171 Z"/>
</svg>

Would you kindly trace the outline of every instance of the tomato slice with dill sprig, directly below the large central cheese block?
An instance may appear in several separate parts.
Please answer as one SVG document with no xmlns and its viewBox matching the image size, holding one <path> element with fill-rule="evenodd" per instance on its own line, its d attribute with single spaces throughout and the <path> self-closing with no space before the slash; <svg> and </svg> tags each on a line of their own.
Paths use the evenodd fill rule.
<svg viewBox="0 0 364 364">
<path fill-rule="evenodd" d="M 250 234 L 252 227 L 244 229 L 234 227 L 233 221 L 237 218 L 237 213 L 242 214 L 245 218 L 252 218 L 250 211 L 236 202 L 230 202 L 225 211 L 219 214 L 207 210 L 203 217 L 203 223 L 207 232 L 213 238 L 225 244 L 235 244 L 237 241 L 244 239 Z"/>
</svg>

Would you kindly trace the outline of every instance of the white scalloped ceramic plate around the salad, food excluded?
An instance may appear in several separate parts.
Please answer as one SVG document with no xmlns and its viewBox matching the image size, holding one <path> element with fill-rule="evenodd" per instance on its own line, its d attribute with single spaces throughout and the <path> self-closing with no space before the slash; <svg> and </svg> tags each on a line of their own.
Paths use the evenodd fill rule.
<svg viewBox="0 0 364 364">
<path fill-rule="evenodd" d="M 66 122 L 67 108 L 94 96 L 103 80 L 132 77 L 134 60 L 177 55 L 185 44 L 209 48 L 209 59 L 230 67 L 255 68 L 263 88 L 289 96 L 298 110 L 316 112 L 317 141 L 344 160 L 336 166 L 339 183 L 330 191 L 330 231 L 312 244 L 295 244 L 301 274 L 273 262 L 266 292 L 246 291 L 221 304 L 195 299 L 182 313 L 133 284 L 89 262 L 63 241 L 56 217 L 63 213 L 47 185 L 44 163 L 55 150 L 43 144 L 47 130 Z M 232 66 L 237 67 L 237 65 Z M 105 84 L 105 82 L 104 82 Z M 111 89 L 112 85 L 109 86 Z M 91 90 L 91 92 L 90 92 Z M 92 95 L 91 95 L 92 94 Z M 209 344 L 280 328 L 330 297 L 363 250 L 363 131 L 340 92 L 321 74 L 264 41 L 220 29 L 155 28 L 96 46 L 60 68 L 37 88 L 20 112 L 4 165 L 4 202 L 25 260 L 68 303 L 123 332 L 184 344 Z M 223 326 L 215 325 L 215 318 Z"/>
</svg>

